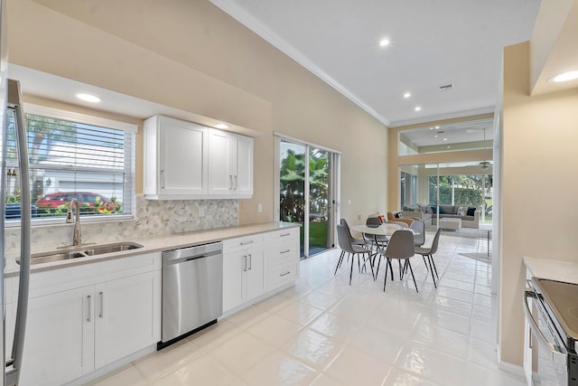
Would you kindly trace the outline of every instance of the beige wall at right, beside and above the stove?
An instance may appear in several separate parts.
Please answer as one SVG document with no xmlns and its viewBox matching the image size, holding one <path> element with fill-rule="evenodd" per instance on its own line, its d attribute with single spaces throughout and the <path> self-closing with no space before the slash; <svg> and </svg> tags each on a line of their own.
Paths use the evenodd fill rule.
<svg viewBox="0 0 578 386">
<path fill-rule="evenodd" d="M 529 43 L 504 51 L 501 360 L 521 365 L 524 256 L 578 262 L 578 89 L 529 96 Z"/>
</svg>

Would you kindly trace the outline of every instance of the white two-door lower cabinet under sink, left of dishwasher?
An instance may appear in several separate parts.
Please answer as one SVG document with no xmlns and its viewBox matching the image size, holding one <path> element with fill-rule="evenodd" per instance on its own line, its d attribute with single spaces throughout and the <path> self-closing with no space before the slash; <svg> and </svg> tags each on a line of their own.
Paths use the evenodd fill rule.
<svg viewBox="0 0 578 386">
<path fill-rule="evenodd" d="M 92 280 L 82 276 L 91 265 L 48 271 L 55 276 L 48 287 L 32 275 L 31 287 L 38 285 L 31 288 L 21 385 L 61 385 L 160 340 L 160 254 L 150 271 L 118 272 L 116 262 L 95 269 L 103 280 L 88 286 Z M 69 289 L 59 276 L 71 280 Z"/>
</svg>

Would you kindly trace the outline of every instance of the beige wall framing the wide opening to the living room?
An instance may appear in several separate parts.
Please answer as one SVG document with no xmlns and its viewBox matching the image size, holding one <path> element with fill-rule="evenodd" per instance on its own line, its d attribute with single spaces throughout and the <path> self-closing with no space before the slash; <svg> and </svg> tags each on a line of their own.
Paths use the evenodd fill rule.
<svg viewBox="0 0 578 386">
<path fill-rule="evenodd" d="M 433 122 L 420 123 L 415 125 L 390 127 L 388 133 L 388 169 L 387 169 L 387 210 L 396 211 L 400 205 L 400 172 L 401 165 L 422 165 L 446 162 L 478 162 L 482 159 L 492 159 L 492 150 L 464 150 L 459 152 L 443 152 L 419 155 L 398 155 L 397 137 L 400 131 L 420 129 L 424 127 L 450 125 L 457 122 L 464 122 L 478 119 L 492 118 L 493 114 L 482 114 L 477 116 L 444 119 Z M 480 173 L 480 171 L 479 171 Z M 421 193 L 420 193 L 421 195 Z M 422 203 L 422 202 L 420 202 Z M 427 202 L 425 202 L 427 203 Z"/>
</svg>

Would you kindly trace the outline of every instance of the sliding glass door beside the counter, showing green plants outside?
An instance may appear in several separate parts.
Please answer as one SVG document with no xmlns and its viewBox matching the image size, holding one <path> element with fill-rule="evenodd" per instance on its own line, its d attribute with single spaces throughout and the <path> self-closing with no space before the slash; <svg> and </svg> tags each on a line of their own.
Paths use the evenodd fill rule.
<svg viewBox="0 0 578 386">
<path fill-rule="evenodd" d="M 337 154 L 278 138 L 279 220 L 301 227 L 301 256 L 333 247 Z"/>
</svg>

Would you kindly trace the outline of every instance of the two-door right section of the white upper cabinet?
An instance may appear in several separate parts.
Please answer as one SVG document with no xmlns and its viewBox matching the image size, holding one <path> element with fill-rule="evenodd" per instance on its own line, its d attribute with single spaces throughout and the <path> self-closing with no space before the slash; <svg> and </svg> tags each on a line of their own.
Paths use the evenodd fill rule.
<svg viewBox="0 0 578 386">
<path fill-rule="evenodd" d="M 209 194 L 251 197 L 253 138 L 209 129 Z"/>
</svg>

